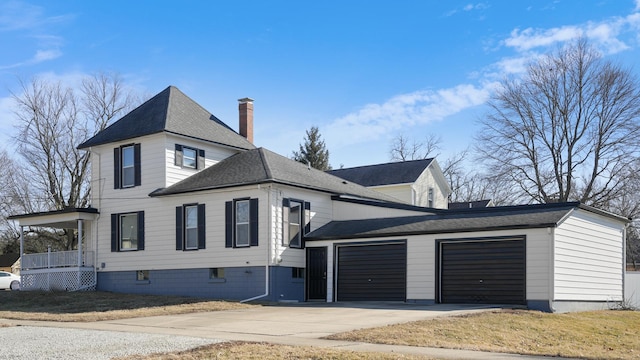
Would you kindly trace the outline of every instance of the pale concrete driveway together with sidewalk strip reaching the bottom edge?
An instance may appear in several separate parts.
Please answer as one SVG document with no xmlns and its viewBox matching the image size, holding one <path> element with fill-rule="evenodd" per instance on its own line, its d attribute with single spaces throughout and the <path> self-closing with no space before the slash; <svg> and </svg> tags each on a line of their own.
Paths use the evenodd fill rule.
<svg viewBox="0 0 640 360">
<path fill-rule="evenodd" d="M 549 359 L 410 346 L 376 345 L 320 339 L 336 332 L 486 311 L 488 307 L 413 305 L 398 303 L 340 303 L 262 306 L 197 314 L 154 316 L 93 323 L 15 321 L 36 328 L 87 329 L 110 334 L 155 334 L 198 339 L 264 341 L 287 345 L 333 347 L 353 351 L 422 354 L 440 359 Z M 0 329 L 0 334 L 11 328 Z M 4 342 L 4 341 L 3 341 Z M 72 342 L 71 342 L 72 343 Z M 70 343 L 70 345 L 71 345 Z M 163 350 L 167 351 L 167 350 Z M 81 357 L 77 357 L 81 358 Z"/>
</svg>

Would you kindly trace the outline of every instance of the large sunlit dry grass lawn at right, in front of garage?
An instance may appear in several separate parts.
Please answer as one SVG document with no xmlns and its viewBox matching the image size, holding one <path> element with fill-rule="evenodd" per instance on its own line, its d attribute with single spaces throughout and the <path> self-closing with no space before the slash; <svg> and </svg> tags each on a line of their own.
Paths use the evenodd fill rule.
<svg viewBox="0 0 640 360">
<path fill-rule="evenodd" d="M 327 338 L 584 359 L 638 359 L 640 312 L 496 311 L 357 330 Z"/>
</svg>

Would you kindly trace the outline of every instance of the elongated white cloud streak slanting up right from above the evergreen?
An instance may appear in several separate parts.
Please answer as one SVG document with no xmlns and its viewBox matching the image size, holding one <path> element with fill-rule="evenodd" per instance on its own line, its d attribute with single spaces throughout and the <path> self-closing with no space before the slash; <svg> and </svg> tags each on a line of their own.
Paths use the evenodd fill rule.
<svg viewBox="0 0 640 360">
<path fill-rule="evenodd" d="M 335 147 L 369 142 L 406 126 L 442 120 L 483 104 L 489 97 L 491 86 L 491 83 L 482 87 L 464 84 L 397 95 L 382 104 L 367 104 L 336 119 L 323 131 L 327 134 L 327 142 Z"/>
</svg>

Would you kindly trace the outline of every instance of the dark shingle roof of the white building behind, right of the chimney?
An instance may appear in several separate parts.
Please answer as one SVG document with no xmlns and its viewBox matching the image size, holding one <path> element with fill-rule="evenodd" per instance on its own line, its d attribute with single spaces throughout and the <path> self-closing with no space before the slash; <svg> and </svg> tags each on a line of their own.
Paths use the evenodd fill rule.
<svg viewBox="0 0 640 360">
<path fill-rule="evenodd" d="M 415 182 L 432 161 L 433 159 L 401 161 L 327 172 L 362 186 L 407 184 Z"/>
</svg>

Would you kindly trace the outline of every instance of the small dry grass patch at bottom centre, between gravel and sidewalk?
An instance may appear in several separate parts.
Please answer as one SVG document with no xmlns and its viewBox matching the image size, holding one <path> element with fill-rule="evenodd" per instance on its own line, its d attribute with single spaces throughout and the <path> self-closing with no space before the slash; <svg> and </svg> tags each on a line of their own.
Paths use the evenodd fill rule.
<svg viewBox="0 0 640 360">
<path fill-rule="evenodd" d="M 192 350 L 151 355 L 133 355 L 119 360 L 204 360 L 204 359 L 288 359 L 288 360 L 428 360 L 430 357 L 402 354 L 381 354 L 316 348 L 310 346 L 288 346 L 266 343 L 225 342 L 199 347 Z"/>
</svg>

